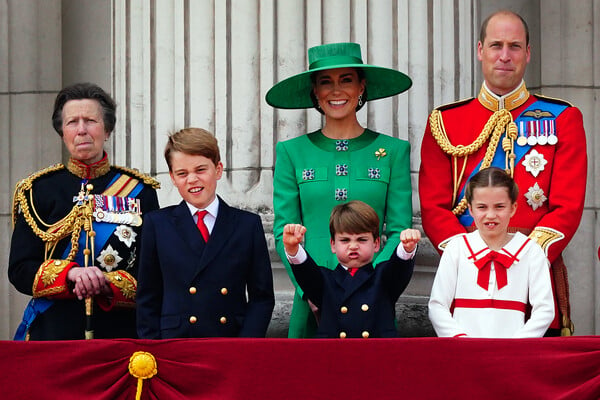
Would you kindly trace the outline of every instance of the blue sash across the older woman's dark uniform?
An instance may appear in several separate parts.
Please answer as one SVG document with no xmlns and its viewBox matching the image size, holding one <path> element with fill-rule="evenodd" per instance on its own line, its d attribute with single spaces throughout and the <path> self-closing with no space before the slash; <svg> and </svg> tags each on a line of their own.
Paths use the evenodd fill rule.
<svg viewBox="0 0 600 400">
<path fill-rule="evenodd" d="M 115 181 L 117 179 L 119 179 L 120 176 L 121 176 L 120 173 L 116 174 L 115 177 L 112 179 L 112 181 L 110 181 L 110 183 L 108 184 L 107 188 L 110 188 L 111 185 L 113 183 L 115 183 Z M 135 188 L 128 194 L 128 197 L 136 197 L 142 191 L 143 188 L 144 188 L 144 184 L 142 182 L 138 183 L 135 186 Z M 94 251 L 93 258 L 92 258 L 92 260 L 95 260 L 96 257 L 98 256 L 98 254 L 100 254 L 100 251 L 106 245 L 108 238 L 110 238 L 110 236 L 113 234 L 115 229 L 117 229 L 117 224 L 93 221 L 92 226 L 93 226 L 94 231 L 96 232 L 96 236 L 94 238 L 94 244 L 95 244 L 94 250 L 95 251 Z M 69 252 L 71 251 L 71 247 L 72 247 L 71 242 L 69 242 L 69 244 L 65 248 L 65 251 L 63 252 L 63 255 L 62 255 L 63 260 L 66 259 L 67 256 L 69 255 Z M 80 249 L 85 248 L 85 235 L 79 236 L 79 248 Z M 83 252 L 78 251 L 77 255 L 75 256 L 75 259 L 73 261 L 79 265 L 83 265 L 84 264 Z M 25 308 L 25 311 L 23 312 L 23 319 L 21 320 L 21 323 L 19 324 L 17 331 L 15 332 L 15 336 L 14 336 L 13 340 L 25 340 L 25 338 L 27 336 L 27 332 L 29 331 L 29 327 L 31 326 L 31 324 L 33 323 L 35 318 L 38 315 L 46 312 L 53 304 L 54 304 L 54 300 L 50 300 L 46 297 L 38 297 L 36 299 L 29 300 L 29 303 L 27 303 L 27 307 Z"/>
</svg>

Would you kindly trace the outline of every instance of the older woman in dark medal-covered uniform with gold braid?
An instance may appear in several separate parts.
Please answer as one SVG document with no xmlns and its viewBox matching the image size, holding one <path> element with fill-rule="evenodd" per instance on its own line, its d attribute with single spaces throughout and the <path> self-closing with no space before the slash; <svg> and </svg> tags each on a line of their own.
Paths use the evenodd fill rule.
<svg viewBox="0 0 600 400">
<path fill-rule="evenodd" d="M 158 208 L 159 185 L 109 164 L 115 111 L 94 84 L 61 90 L 52 123 L 69 161 L 17 183 L 8 277 L 33 299 L 15 339 L 136 336 L 141 216 Z"/>
</svg>

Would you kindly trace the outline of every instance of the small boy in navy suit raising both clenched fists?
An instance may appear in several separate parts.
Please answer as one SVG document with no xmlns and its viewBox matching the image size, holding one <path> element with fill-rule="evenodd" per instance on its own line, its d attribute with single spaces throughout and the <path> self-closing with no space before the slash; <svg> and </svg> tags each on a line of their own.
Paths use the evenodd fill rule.
<svg viewBox="0 0 600 400">
<path fill-rule="evenodd" d="M 373 268 L 379 250 L 379 217 L 362 201 L 334 207 L 329 219 L 331 251 L 339 264 L 318 267 L 302 248 L 306 228 L 283 230 L 286 256 L 304 295 L 320 310 L 320 338 L 397 337 L 395 305 L 412 276 L 421 233 L 405 229 L 389 261 Z"/>
</svg>

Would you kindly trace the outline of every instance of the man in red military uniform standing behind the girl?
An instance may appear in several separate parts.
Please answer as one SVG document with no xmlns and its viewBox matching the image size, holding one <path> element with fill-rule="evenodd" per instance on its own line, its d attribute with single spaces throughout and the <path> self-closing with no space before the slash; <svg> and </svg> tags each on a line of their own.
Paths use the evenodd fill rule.
<svg viewBox="0 0 600 400">
<path fill-rule="evenodd" d="M 464 200 L 469 177 L 490 165 L 519 186 L 511 229 L 537 241 L 552 263 L 556 316 L 552 332 L 570 335 L 566 268 L 561 253 L 579 225 L 587 154 L 581 112 L 569 103 L 531 95 L 523 75 L 529 30 L 510 11 L 482 24 L 477 57 L 484 83 L 477 98 L 435 109 L 421 146 L 419 197 L 425 233 L 443 251 L 455 235 L 474 229 Z"/>
</svg>

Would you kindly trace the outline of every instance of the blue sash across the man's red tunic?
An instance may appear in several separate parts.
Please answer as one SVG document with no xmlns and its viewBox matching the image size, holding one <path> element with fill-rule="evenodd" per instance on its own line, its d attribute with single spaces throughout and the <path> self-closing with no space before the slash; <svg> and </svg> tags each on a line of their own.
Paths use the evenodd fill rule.
<svg viewBox="0 0 600 400">
<path fill-rule="evenodd" d="M 529 121 L 540 121 L 540 120 L 555 120 L 564 110 L 567 109 L 567 106 L 564 104 L 557 104 L 557 103 L 551 103 L 549 101 L 546 101 L 544 99 L 538 99 L 536 102 L 532 103 L 529 107 L 527 107 L 526 110 L 524 110 L 516 119 L 515 119 L 515 123 L 517 124 L 517 128 L 519 127 L 521 122 L 529 122 Z M 541 110 L 541 111 L 547 111 L 548 114 L 545 114 L 545 116 L 543 118 L 536 118 L 534 116 L 524 116 L 525 114 L 528 114 L 528 111 L 534 111 L 534 110 Z M 529 114 L 533 114 L 533 113 L 529 113 Z M 555 132 L 556 135 L 558 136 L 558 132 Z M 502 150 L 502 140 L 506 137 L 506 133 L 502 134 L 502 136 L 500 137 L 500 142 L 498 143 L 498 148 L 496 149 L 496 154 L 494 154 L 494 158 L 492 159 L 492 167 L 498 167 L 498 168 L 502 168 L 504 169 L 506 164 L 506 153 L 504 152 L 504 150 Z M 515 168 L 517 163 L 525 156 L 525 154 L 527 154 L 529 152 L 529 150 L 531 149 L 531 146 L 526 144 L 525 146 L 518 146 L 516 145 L 514 150 L 515 150 Z M 473 177 L 473 175 L 475 175 L 477 172 L 479 172 L 479 170 L 481 169 L 481 164 L 482 164 L 483 160 L 481 160 L 479 162 L 479 164 L 477 164 L 477 166 L 473 169 L 473 171 L 471 172 L 471 174 L 469 175 L 469 177 L 467 178 L 465 185 L 463 186 L 463 188 L 461 189 L 459 196 L 458 196 L 458 201 L 460 201 L 460 199 L 462 199 L 465 195 L 465 188 L 467 186 L 467 183 L 469 182 L 469 180 Z M 456 204 L 455 204 L 456 206 Z M 464 227 L 469 227 L 471 225 L 473 225 L 473 217 L 471 216 L 471 214 L 469 213 L 469 210 L 465 210 L 465 212 L 458 217 L 458 221 L 461 223 L 461 225 L 463 225 Z"/>
</svg>

